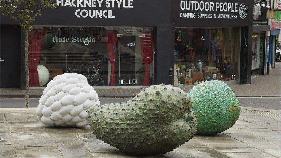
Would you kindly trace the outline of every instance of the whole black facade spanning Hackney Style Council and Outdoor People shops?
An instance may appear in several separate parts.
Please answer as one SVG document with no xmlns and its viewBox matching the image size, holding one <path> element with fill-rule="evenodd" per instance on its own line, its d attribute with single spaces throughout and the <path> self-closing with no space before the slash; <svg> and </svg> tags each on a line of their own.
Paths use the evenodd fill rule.
<svg viewBox="0 0 281 158">
<path fill-rule="evenodd" d="M 54 2 L 29 32 L 31 88 L 63 73 L 83 74 L 96 88 L 250 83 L 250 2 Z M 1 88 L 24 89 L 24 31 L 2 16 L 1 39 Z"/>
</svg>

